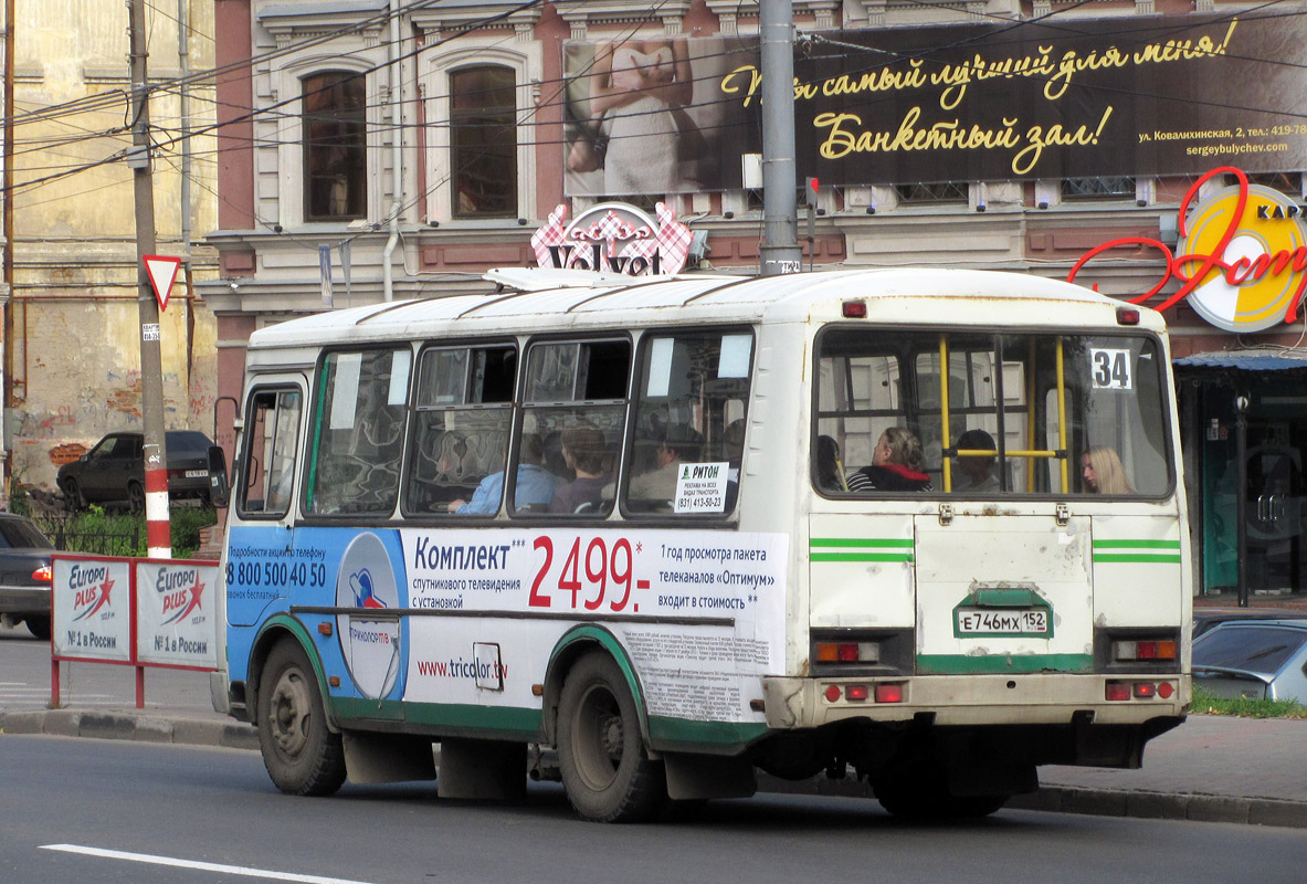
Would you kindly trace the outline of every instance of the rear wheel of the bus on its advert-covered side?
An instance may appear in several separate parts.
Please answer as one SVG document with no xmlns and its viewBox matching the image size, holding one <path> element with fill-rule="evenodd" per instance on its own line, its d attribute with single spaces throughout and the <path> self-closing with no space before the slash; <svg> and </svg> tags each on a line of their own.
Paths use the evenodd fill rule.
<svg viewBox="0 0 1307 884">
<path fill-rule="evenodd" d="M 622 671 L 587 654 L 558 701 L 558 768 L 572 809 L 592 823 L 639 823 L 663 809 L 667 778 L 651 761 Z"/>
</svg>

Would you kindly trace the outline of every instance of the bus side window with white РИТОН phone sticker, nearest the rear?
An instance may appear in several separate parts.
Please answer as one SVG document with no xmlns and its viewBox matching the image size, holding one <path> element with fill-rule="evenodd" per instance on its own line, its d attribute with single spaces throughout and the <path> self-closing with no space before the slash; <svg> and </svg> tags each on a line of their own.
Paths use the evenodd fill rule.
<svg viewBox="0 0 1307 884">
<path fill-rule="evenodd" d="M 625 506 L 724 515 L 738 494 L 753 335 L 680 332 L 642 343 Z"/>
</svg>

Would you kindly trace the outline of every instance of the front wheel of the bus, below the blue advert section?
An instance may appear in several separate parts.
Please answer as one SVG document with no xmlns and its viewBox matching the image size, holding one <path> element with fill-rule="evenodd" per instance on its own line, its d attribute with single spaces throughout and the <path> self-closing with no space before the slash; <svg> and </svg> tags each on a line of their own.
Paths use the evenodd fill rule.
<svg viewBox="0 0 1307 884">
<path fill-rule="evenodd" d="M 259 679 L 259 749 L 289 795 L 331 795 L 345 782 L 340 734 L 328 730 L 314 670 L 291 639 L 273 646 Z"/>
</svg>

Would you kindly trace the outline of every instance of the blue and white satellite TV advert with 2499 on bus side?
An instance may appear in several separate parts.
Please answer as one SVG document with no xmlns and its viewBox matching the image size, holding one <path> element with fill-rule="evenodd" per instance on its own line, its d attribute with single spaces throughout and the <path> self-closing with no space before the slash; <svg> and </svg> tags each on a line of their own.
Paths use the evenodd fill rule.
<svg viewBox="0 0 1307 884">
<path fill-rule="evenodd" d="M 780 534 L 299 528 L 290 549 L 265 539 L 233 528 L 229 620 L 255 626 L 285 595 L 329 612 L 336 638 L 318 649 L 342 697 L 538 709 L 532 684 L 555 643 L 589 624 L 625 649 L 651 714 L 754 722 L 758 677 L 784 664 Z M 234 666 L 243 641 L 229 632 Z"/>
</svg>

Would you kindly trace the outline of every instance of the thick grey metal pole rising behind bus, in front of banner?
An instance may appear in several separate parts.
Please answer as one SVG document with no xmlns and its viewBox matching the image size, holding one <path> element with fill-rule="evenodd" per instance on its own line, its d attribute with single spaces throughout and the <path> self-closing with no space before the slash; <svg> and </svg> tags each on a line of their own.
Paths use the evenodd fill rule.
<svg viewBox="0 0 1307 884">
<path fill-rule="evenodd" d="M 799 190 L 795 171 L 795 8 L 762 0 L 762 275 L 797 273 Z"/>
</svg>

